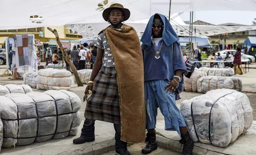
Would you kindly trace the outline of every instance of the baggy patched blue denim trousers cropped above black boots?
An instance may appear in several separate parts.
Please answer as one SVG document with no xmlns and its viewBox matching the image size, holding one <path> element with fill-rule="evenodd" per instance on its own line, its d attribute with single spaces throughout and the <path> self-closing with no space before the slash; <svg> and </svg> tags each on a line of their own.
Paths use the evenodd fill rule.
<svg viewBox="0 0 256 155">
<path fill-rule="evenodd" d="M 169 80 L 145 81 L 146 129 L 155 129 L 157 108 L 160 108 L 165 130 L 176 130 L 180 135 L 179 127 L 186 127 L 186 123 L 176 106 L 175 95 L 164 90 L 169 83 Z"/>
</svg>

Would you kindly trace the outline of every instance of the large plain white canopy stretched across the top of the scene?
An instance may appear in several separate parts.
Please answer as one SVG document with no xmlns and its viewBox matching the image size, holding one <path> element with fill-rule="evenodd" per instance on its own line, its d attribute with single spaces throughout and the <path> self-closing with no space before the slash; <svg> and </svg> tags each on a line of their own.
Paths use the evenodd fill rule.
<svg viewBox="0 0 256 155">
<path fill-rule="evenodd" d="M 171 14 L 203 10 L 256 11 L 256 0 L 172 0 L 171 2 Z M 109 7 L 112 3 L 123 4 L 131 11 L 129 21 L 138 21 L 149 19 L 154 13 L 169 14 L 170 0 L 109 0 L 108 4 L 98 9 L 99 3 L 103 3 L 103 0 L 44 0 L 37 2 L 34 0 L 0 0 L 1 12 L 4 13 L 0 22 L 0 30 L 103 23 L 100 10 Z M 246 6 L 242 7 L 244 4 Z M 34 15 L 42 18 L 33 19 Z M 31 20 L 30 16 L 33 16 Z"/>
</svg>

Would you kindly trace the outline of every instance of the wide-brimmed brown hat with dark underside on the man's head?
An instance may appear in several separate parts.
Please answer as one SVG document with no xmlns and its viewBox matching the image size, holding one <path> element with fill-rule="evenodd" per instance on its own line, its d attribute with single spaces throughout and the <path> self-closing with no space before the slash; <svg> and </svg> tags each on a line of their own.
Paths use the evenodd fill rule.
<svg viewBox="0 0 256 155">
<path fill-rule="evenodd" d="M 122 10 L 123 13 L 124 13 L 124 21 L 127 21 L 130 18 L 130 15 L 131 15 L 130 10 L 124 8 L 124 6 L 122 6 L 122 4 L 115 3 L 115 4 L 112 4 L 111 6 L 109 6 L 109 8 L 107 8 L 103 11 L 102 16 L 103 16 L 103 19 L 105 21 L 109 20 L 109 13 L 112 9 Z"/>
</svg>

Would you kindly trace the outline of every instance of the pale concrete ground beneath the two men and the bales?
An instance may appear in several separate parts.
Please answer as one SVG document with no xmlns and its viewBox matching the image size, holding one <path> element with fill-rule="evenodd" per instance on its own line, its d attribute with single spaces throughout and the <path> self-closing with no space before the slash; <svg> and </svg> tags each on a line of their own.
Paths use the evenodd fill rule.
<svg viewBox="0 0 256 155">
<path fill-rule="evenodd" d="M 3 73 L 5 68 L 0 66 L 0 74 Z M 256 69 L 250 69 L 250 72 L 242 76 L 237 75 L 242 79 L 243 91 L 256 92 L 256 80 L 255 80 Z M 22 84 L 23 80 L 10 80 L 8 77 L 0 77 L 0 84 L 6 85 L 8 83 Z M 84 87 L 76 87 L 76 84 L 72 85 L 70 91 L 76 93 L 81 100 L 83 100 Z M 38 91 L 33 89 L 33 91 Z M 44 90 L 40 90 L 44 92 Z M 196 155 L 255 155 L 256 153 L 256 94 L 255 93 L 245 93 L 253 108 L 254 124 L 251 129 L 244 135 L 240 136 L 237 141 L 230 144 L 228 147 L 220 148 L 212 145 L 196 143 L 194 148 L 194 154 Z M 176 105 L 180 107 L 182 100 L 193 98 L 194 96 L 199 96 L 199 93 L 182 92 L 181 100 L 179 100 Z M 85 110 L 85 102 L 82 102 L 80 113 L 83 116 Z M 82 128 L 84 117 L 82 117 L 82 123 L 80 129 Z M 157 116 L 157 140 L 159 148 L 155 151 L 155 154 L 165 155 L 172 154 L 172 151 L 180 152 L 181 147 L 178 143 L 180 139 L 177 132 L 175 131 L 165 131 L 164 130 L 164 118 L 160 110 L 158 110 Z M 101 155 L 114 150 L 114 127 L 111 123 L 105 123 L 96 121 L 95 122 L 95 142 L 90 142 L 86 144 L 74 145 L 72 141 L 74 138 L 80 136 L 81 130 L 77 136 L 68 136 L 62 140 L 49 140 L 42 143 L 33 143 L 28 146 L 16 146 L 11 148 L 2 148 L 2 155 Z M 132 155 L 140 154 L 140 149 L 144 147 L 145 144 L 134 144 L 129 147 Z M 113 155 L 115 152 L 111 152 Z M 111 154 L 106 154 L 111 155 Z"/>
</svg>

